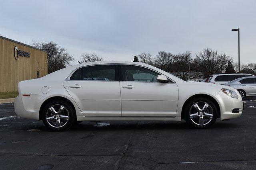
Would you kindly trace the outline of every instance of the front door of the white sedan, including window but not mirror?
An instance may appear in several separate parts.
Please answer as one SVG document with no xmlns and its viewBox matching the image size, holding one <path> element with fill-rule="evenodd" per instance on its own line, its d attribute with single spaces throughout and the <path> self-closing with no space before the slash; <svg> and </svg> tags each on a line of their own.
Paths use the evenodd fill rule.
<svg viewBox="0 0 256 170">
<path fill-rule="evenodd" d="M 160 83 L 154 70 L 119 65 L 122 117 L 175 117 L 178 105 L 176 83 Z"/>
</svg>

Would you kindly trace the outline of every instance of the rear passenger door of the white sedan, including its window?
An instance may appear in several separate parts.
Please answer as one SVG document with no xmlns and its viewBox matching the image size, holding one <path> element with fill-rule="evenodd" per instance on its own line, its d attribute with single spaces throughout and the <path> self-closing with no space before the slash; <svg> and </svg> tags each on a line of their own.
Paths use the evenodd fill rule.
<svg viewBox="0 0 256 170">
<path fill-rule="evenodd" d="M 86 117 L 121 117 L 117 65 L 78 68 L 64 87 Z"/>
</svg>

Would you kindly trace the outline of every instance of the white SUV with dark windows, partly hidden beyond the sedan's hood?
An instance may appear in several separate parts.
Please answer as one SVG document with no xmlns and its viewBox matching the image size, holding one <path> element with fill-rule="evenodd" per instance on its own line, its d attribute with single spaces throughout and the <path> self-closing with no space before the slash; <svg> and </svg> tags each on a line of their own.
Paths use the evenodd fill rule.
<svg viewBox="0 0 256 170">
<path fill-rule="evenodd" d="M 249 77 L 254 76 L 252 74 L 244 74 L 244 73 L 238 73 L 238 74 L 213 74 L 210 75 L 208 80 L 206 79 L 205 82 L 208 83 L 215 83 L 215 84 L 225 84 L 232 80 L 236 80 L 237 78 L 241 77 Z"/>
</svg>

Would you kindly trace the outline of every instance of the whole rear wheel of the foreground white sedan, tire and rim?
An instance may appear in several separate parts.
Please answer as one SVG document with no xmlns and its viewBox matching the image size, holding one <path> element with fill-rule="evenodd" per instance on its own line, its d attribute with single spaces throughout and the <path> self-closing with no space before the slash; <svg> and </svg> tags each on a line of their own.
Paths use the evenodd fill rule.
<svg viewBox="0 0 256 170">
<path fill-rule="evenodd" d="M 74 123 L 74 111 L 66 101 L 51 101 L 44 107 L 42 119 L 48 129 L 64 131 Z"/>
</svg>

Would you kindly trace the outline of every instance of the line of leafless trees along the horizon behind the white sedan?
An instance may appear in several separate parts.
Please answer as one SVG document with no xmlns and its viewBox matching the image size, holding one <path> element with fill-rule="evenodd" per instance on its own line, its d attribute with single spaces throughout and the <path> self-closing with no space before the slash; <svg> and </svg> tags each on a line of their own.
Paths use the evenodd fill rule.
<svg viewBox="0 0 256 170">
<path fill-rule="evenodd" d="M 38 42 L 32 41 L 32 46 L 47 51 L 48 74 L 56 70 L 65 68 L 74 61 L 74 57 L 66 52 L 53 41 Z M 94 53 L 82 53 L 79 63 L 102 61 L 102 57 Z M 134 56 L 134 62 L 150 64 L 166 72 L 172 72 L 183 80 L 206 78 L 211 74 L 238 73 L 238 63 L 233 62 L 233 58 L 225 53 L 218 53 L 213 49 L 203 49 L 195 57 L 191 51 L 172 54 L 166 51 L 159 51 L 155 57 L 150 53 L 140 53 Z M 240 64 L 240 73 L 256 75 L 256 63 Z"/>
</svg>

